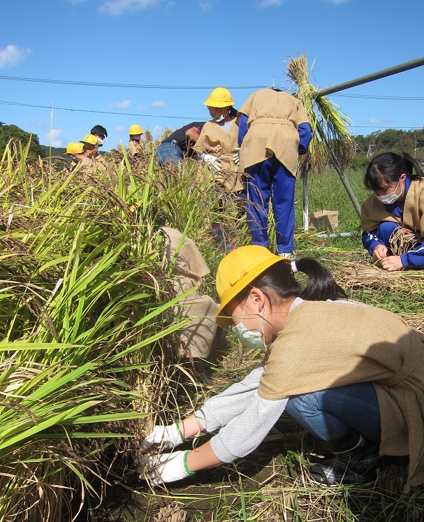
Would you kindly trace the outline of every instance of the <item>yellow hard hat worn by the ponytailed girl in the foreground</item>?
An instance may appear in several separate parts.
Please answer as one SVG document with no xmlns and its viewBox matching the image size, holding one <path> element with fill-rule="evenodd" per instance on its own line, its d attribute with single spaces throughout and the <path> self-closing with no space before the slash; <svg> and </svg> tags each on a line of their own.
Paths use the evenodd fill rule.
<svg viewBox="0 0 424 522">
<path fill-rule="evenodd" d="M 231 324 L 229 317 L 221 317 L 226 305 L 266 268 L 279 261 L 288 262 L 290 260 L 276 256 L 268 248 L 258 245 L 236 248 L 222 259 L 218 266 L 216 282 L 220 300 L 217 324 L 220 326 Z"/>
</svg>

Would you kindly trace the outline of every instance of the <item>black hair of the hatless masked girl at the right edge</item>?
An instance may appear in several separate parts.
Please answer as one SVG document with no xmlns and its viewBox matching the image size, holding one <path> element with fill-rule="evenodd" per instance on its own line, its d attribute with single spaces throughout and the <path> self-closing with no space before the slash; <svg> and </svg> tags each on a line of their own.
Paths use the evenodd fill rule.
<svg viewBox="0 0 424 522">
<path fill-rule="evenodd" d="M 424 176 L 421 167 L 407 152 L 383 152 L 368 164 L 364 177 L 365 187 L 372 191 L 385 189 L 388 184 L 397 183 L 403 173 L 409 177 Z"/>
</svg>

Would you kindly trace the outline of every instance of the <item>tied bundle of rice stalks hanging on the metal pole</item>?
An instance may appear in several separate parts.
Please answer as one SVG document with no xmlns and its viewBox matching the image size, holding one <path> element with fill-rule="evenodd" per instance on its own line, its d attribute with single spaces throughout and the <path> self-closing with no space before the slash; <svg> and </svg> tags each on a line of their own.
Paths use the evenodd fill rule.
<svg viewBox="0 0 424 522">
<path fill-rule="evenodd" d="M 288 77 L 298 85 L 296 96 L 302 101 L 312 127 L 309 150 L 300 157 L 300 175 L 319 172 L 329 161 L 343 166 L 353 157 L 353 140 L 346 129 L 351 124 L 349 118 L 328 98 L 318 96 L 319 89 L 309 82 L 306 55 L 291 58 L 287 68 Z"/>
</svg>

